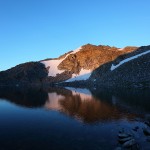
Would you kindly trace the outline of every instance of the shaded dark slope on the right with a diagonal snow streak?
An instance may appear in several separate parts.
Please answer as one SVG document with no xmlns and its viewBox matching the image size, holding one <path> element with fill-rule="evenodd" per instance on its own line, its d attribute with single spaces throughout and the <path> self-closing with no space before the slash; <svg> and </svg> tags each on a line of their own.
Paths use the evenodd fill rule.
<svg viewBox="0 0 150 150">
<path fill-rule="evenodd" d="M 149 68 L 150 46 L 142 46 L 97 68 L 91 76 L 91 82 L 114 88 L 149 88 Z"/>
</svg>

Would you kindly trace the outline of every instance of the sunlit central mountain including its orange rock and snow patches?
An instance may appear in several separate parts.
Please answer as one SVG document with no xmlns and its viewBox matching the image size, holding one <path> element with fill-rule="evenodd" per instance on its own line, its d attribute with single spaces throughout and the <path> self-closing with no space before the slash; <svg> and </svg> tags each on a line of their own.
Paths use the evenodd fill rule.
<svg viewBox="0 0 150 150">
<path fill-rule="evenodd" d="M 91 44 L 81 46 L 59 58 L 41 61 L 48 71 L 48 78 L 45 82 L 88 80 L 92 71 L 99 66 L 136 49 L 137 47 L 125 47 L 120 49 Z"/>
</svg>

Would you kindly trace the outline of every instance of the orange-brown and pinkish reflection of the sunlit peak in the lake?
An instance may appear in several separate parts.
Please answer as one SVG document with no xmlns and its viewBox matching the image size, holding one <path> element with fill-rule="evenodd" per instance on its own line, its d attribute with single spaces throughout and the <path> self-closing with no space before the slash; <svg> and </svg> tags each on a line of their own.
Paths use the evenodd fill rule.
<svg viewBox="0 0 150 150">
<path fill-rule="evenodd" d="M 133 119 L 137 115 L 121 110 L 116 105 L 92 96 L 87 89 L 66 88 L 62 92 L 49 92 L 45 108 L 54 109 L 82 122 Z"/>
</svg>

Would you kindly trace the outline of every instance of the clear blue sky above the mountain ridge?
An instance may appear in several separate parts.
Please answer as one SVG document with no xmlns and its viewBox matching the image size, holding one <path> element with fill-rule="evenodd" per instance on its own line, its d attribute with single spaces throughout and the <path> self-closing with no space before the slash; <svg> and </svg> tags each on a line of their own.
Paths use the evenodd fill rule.
<svg viewBox="0 0 150 150">
<path fill-rule="evenodd" d="M 87 43 L 150 45 L 150 0 L 0 0 L 0 70 Z"/>
</svg>

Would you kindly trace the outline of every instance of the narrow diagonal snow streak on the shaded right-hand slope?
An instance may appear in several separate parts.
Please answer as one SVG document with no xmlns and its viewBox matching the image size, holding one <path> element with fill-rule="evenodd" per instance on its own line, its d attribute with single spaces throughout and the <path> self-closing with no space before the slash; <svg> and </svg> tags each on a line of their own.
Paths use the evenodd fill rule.
<svg viewBox="0 0 150 150">
<path fill-rule="evenodd" d="M 146 54 L 148 54 L 148 53 L 150 53 L 150 50 L 148 50 L 148 51 L 146 51 L 146 52 L 143 52 L 143 53 L 141 53 L 141 54 L 137 54 L 137 55 L 135 55 L 135 56 L 129 57 L 129 58 L 127 58 L 127 59 L 124 59 L 124 60 L 120 61 L 119 64 L 117 64 L 117 65 L 112 64 L 110 70 L 113 71 L 113 70 L 115 70 L 116 68 L 118 68 L 119 66 L 121 66 L 122 64 L 124 64 L 124 63 L 126 63 L 126 62 L 129 62 L 129 61 L 131 61 L 131 60 L 133 60 L 133 59 L 136 59 L 136 58 L 138 58 L 138 57 L 140 57 L 140 56 L 146 55 Z"/>
</svg>

